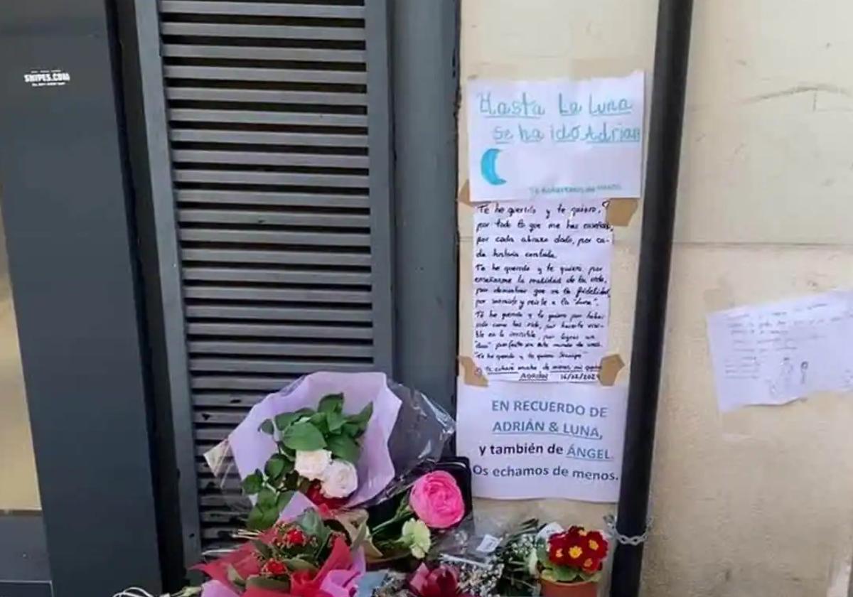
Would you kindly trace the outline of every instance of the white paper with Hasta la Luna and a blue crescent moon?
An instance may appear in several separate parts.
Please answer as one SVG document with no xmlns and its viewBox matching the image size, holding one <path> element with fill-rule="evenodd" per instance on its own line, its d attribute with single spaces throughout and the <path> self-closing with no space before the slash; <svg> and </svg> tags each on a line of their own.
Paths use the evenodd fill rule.
<svg viewBox="0 0 853 597">
<path fill-rule="evenodd" d="M 643 73 L 467 85 L 471 199 L 639 197 Z"/>
</svg>

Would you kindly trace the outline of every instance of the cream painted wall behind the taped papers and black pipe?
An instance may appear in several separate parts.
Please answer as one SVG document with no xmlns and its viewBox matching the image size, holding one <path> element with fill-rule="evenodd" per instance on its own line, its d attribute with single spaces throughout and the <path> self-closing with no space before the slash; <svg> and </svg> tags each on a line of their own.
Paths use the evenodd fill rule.
<svg viewBox="0 0 853 597">
<path fill-rule="evenodd" d="M 656 13 L 654 0 L 461 0 L 462 96 L 471 77 L 651 73 Z M 853 395 L 721 415 L 705 314 L 853 287 L 851 21 L 849 0 L 695 0 L 647 596 L 846 594 L 838 571 L 853 557 Z M 464 114 L 463 105 L 460 183 Z M 471 215 L 460 205 L 462 355 Z M 626 361 L 639 220 L 616 231 L 610 343 Z M 588 525 L 612 510 L 478 508 Z"/>
</svg>

